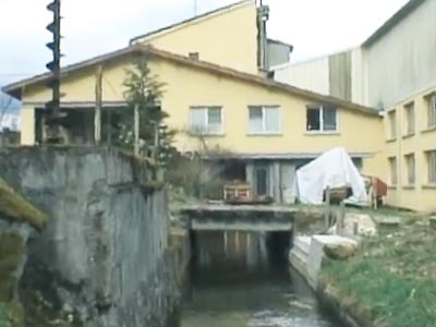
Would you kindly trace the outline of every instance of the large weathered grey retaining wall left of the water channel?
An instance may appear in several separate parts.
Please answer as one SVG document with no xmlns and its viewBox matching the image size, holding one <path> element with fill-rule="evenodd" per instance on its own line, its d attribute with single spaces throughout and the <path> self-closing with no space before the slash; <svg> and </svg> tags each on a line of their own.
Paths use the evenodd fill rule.
<svg viewBox="0 0 436 327">
<path fill-rule="evenodd" d="M 9 148 L 0 175 L 50 216 L 22 278 L 28 325 L 41 310 L 61 326 L 168 323 L 180 299 L 168 203 L 145 161 L 107 148 Z"/>
</svg>

